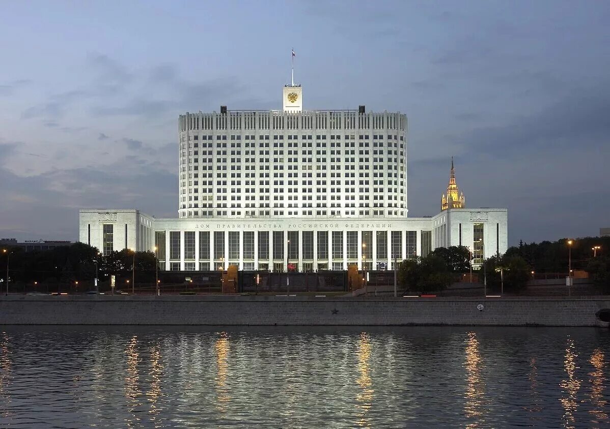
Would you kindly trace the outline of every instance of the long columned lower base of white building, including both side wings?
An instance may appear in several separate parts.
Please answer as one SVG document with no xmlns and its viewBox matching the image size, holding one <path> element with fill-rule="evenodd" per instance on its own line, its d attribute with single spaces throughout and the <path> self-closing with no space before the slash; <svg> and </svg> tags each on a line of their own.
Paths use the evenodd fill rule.
<svg viewBox="0 0 610 429">
<path fill-rule="evenodd" d="M 137 210 L 83 209 L 80 219 L 81 242 L 106 254 L 157 248 L 160 267 L 168 270 L 226 270 L 237 265 L 240 270 L 285 271 L 287 264 L 298 271 L 346 270 L 353 263 L 360 269 L 364 265 L 368 270 L 391 270 L 395 259 L 426 256 L 437 247 L 467 246 L 475 263 L 483 256 L 503 254 L 508 247 L 506 209 L 450 209 L 431 218 L 368 219 L 156 219 Z M 112 229 L 110 239 L 104 228 Z"/>
</svg>

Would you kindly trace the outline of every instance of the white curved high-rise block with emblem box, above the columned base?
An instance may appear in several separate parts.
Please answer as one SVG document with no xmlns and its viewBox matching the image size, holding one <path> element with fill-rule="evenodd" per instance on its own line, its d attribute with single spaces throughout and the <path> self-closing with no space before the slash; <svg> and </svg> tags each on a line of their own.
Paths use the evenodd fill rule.
<svg viewBox="0 0 610 429">
<path fill-rule="evenodd" d="M 178 120 L 181 218 L 407 216 L 406 115 L 304 110 L 186 113 Z"/>
</svg>

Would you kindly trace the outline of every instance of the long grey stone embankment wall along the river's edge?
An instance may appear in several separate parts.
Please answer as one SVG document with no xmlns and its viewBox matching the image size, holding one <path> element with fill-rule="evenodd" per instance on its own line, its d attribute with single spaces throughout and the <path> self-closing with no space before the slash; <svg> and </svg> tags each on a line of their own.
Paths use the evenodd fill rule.
<svg viewBox="0 0 610 429">
<path fill-rule="evenodd" d="M 479 305 L 480 304 L 480 305 Z M 2 296 L 0 324 L 608 326 L 598 298 Z"/>
</svg>

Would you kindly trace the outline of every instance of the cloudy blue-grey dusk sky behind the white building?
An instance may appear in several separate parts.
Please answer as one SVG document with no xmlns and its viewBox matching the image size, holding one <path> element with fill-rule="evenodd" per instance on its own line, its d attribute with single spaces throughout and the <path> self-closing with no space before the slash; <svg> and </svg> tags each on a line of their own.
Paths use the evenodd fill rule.
<svg viewBox="0 0 610 429">
<path fill-rule="evenodd" d="M 610 226 L 610 2 L 28 1 L 0 14 L 0 238 L 78 239 L 79 208 L 178 215 L 178 116 L 407 114 L 409 216 L 451 156 L 509 245 Z"/>
</svg>

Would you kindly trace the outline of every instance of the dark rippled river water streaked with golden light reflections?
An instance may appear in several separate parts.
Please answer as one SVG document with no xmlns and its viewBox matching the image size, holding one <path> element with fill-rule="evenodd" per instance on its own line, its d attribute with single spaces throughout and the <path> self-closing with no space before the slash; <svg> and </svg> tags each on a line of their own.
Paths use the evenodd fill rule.
<svg viewBox="0 0 610 429">
<path fill-rule="evenodd" d="M 0 427 L 610 427 L 610 332 L 0 327 Z"/>
</svg>

